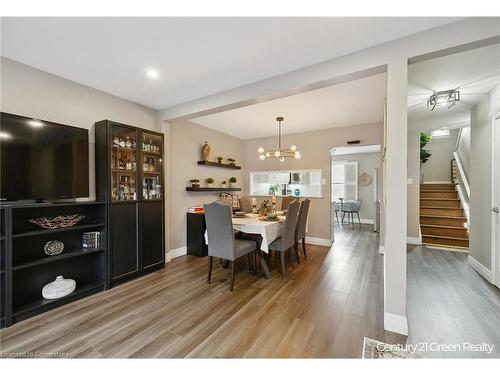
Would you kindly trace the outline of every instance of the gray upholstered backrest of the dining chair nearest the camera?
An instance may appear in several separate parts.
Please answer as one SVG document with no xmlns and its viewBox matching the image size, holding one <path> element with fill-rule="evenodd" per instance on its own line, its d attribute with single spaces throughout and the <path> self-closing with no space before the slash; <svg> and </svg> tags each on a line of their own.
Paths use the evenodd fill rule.
<svg viewBox="0 0 500 375">
<path fill-rule="evenodd" d="M 231 206 L 221 202 L 203 205 L 208 234 L 208 255 L 234 258 L 234 234 Z"/>
</svg>

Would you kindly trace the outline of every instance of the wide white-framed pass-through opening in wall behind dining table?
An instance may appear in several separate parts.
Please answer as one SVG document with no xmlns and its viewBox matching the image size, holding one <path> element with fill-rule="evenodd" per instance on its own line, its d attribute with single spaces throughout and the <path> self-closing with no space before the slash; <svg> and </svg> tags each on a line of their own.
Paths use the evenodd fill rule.
<svg viewBox="0 0 500 375">
<path fill-rule="evenodd" d="M 250 172 L 250 195 L 321 198 L 321 169 Z"/>
</svg>

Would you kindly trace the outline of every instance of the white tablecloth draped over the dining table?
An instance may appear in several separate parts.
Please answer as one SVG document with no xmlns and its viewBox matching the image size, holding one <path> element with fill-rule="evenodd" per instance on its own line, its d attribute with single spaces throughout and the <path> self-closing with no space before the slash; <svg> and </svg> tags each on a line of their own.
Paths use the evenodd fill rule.
<svg viewBox="0 0 500 375">
<path fill-rule="evenodd" d="M 251 234 L 260 234 L 262 244 L 260 249 L 269 253 L 269 244 L 281 235 L 283 231 L 283 216 L 280 221 L 261 221 L 257 215 L 248 215 L 246 218 L 233 218 L 233 229 Z M 205 242 L 208 244 L 208 234 L 205 231 Z"/>
</svg>

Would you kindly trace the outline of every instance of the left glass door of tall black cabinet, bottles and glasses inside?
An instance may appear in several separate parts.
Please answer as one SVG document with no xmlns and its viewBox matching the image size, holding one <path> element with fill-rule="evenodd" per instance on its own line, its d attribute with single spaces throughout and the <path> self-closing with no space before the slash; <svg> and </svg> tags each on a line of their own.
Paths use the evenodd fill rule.
<svg viewBox="0 0 500 375">
<path fill-rule="evenodd" d="M 113 125 L 111 128 L 111 199 L 137 199 L 136 131 Z"/>
</svg>

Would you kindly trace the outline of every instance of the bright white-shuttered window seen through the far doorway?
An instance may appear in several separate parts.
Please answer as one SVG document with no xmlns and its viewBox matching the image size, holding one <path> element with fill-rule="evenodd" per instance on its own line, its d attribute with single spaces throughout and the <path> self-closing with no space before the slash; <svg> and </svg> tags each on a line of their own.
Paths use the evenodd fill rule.
<svg viewBox="0 0 500 375">
<path fill-rule="evenodd" d="M 332 164 L 332 202 L 358 199 L 358 162 L 338 161 Z"/>
</svg>

